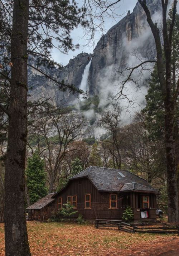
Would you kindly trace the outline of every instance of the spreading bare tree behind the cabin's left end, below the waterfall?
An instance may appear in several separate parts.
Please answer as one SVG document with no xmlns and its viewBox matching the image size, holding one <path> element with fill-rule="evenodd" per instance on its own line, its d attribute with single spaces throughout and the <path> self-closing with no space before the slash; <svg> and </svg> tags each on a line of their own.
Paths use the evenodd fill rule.
<svg viewBox="0 0 179 256">
<path fill-rule="evenodd" d="M 45 159 L 49 193 L 52 193 L 64 156 L 74 150 L 69 145 L 82 135 L 84 119 L 78 113 L 63 113 L 59 109 L 53 109 L 45 116 L 36 116 L 35 120 L 29 134 L 39 140 L 38 149 Z M 43 148 L 40 147 L 40 141 L 43 142 Z"/>
</svg>

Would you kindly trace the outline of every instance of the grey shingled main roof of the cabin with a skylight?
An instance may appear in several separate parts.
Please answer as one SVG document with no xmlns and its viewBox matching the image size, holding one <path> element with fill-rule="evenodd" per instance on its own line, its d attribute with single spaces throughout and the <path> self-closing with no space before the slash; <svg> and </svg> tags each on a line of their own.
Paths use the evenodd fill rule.
<svg viewBox="0 0 179 256">
<path fill-rule="evenodd" d="M 99 191 L 146 191 L 159 193 L 146 180 L 127 170 L 90 166 L 70 180 L 87 177 Z"/>
</svg>

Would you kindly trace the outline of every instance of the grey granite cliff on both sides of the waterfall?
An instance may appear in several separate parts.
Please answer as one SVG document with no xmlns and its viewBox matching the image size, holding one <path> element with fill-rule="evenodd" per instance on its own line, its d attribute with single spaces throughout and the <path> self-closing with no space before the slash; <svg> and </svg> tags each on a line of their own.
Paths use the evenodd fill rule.
<svg viewBox="0 0 179 256">
<path fill-rule="evenodd" d="M 160 1 L 147 0 L 147 5 L 152 18 L 154 20 L 155 16 L 158 18 L 156 12 L 161 9 Z M 116 70 L 124 68 L 126 63 L 130 66 L 139 61 L 135 54 L 140 59 L 154 59 L 156 54 L 153 35 L 146 24 L 146 15 L 139 3 L 131 14 L 128 11 L 125 18 L 103 35 L 93 54 L 81 53 L 71 59 L 62 70 L 48 69 L 45 72 L 58 81 L 74 84 L 79 88 L 84 69 L 92 58 L 88 74 L 88 94 L 89 96 L 100 94 L 104 98 L 111 92 L 113 88 L 111 86 L 117 84 L 119 73 Z M 30 100 L 37 100 L 40 97 L 51 98 L 54 105 L 59 105 L 61 101 L 68 102 L 69 105 L 77 98 L 73 93 L 60 91 L 55 82 L 32 68 L 29 69 L 29 94 Z"/>
</svg>

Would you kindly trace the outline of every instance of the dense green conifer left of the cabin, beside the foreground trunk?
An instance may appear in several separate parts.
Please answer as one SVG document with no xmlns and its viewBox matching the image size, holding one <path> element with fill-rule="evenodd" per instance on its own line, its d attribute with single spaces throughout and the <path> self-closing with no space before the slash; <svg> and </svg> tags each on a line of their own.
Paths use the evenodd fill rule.
<svg viewBox="0 0 179 256">
<path fill-rule="evenodd" d="M 32 157 L 28 158 L 26 177 L 30 202 L 33 204 L 47 195 L 48 191 L 45 187 L 46 173 L 44 170 L 44 161 L 40 158 L 37 151 Z"/>
</svg>

